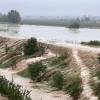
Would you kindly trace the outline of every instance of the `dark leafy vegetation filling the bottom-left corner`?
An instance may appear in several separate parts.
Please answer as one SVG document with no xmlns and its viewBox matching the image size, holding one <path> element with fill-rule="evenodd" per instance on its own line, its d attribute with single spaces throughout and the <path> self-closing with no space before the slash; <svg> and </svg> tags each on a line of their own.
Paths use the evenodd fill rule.
<svg viewBox="0 0 100 100">
<path fill-rule="evenodd" d="M 22 90 L 22 87 L 9 82 L 3 76 L 0 76 L 0 93 L 6 95 L 9 100 L 31 100 L 27 90 Z"/>
</svg>

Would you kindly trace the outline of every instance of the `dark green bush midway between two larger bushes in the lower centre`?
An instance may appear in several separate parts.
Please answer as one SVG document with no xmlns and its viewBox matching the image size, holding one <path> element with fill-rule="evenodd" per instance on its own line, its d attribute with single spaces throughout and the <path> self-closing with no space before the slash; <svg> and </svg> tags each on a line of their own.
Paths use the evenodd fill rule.
<svg viewBox="0 0 100 100">
<path fill-rule="evenodd" d="M 53 79 L 53 86 L 59 90 L 63 89 L 64 86 L 64 76 L 60 71 L 55 72 L 52 76 Z"/>
</svg>

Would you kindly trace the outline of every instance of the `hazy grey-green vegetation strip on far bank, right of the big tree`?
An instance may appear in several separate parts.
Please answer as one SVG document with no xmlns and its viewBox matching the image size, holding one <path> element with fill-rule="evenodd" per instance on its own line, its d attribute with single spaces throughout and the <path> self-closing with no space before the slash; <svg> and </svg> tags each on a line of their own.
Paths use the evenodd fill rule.
<svg viewBox="0 0 100 100">
<path fill-rule="evenodd" d="M 88 19 L 88 20 L 87 20 Z M 89 19 L 89 18 L 32 18 L 32 19 L 22 19 L 22 24 L 29 25 L 47 25 L 47 26 L 63 26 L 69 27 L 72 23 L 77 22 L 80 24 L 81 28 L 100 28 L 100 19 Z"/>
</svg>

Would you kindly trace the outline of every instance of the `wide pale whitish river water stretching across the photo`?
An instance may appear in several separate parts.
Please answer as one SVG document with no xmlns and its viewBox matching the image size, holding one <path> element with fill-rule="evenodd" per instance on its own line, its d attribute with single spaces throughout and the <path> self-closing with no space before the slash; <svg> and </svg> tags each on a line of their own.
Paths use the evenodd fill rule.
<svg viewBox="0 0 100 100">
<path fill-rule="evenodd" d="M 25 39 L 36 37 L 42 41 L 81 42 L 100 40 L 100 29 L 69 29 L 55 26 L 0 24 L 0 36 Z"/>
</svg>

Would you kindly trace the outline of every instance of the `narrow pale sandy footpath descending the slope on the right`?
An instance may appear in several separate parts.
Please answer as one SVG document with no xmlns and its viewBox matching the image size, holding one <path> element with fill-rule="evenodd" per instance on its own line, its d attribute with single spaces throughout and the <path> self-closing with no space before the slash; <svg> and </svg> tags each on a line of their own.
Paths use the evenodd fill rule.
<svg viewBox="0 0 100 100">
<path fill-rule="evenodd" d="M 87 66 L 84 65 L 80 57 L 78 56 L 78 50 L 73 50 L 73 56 L 76 59 L 78 66 L 80 67 L 80 77 L 82 78 L 83 92 L 82 97 L 87 98 L 88 100 L 98 100 L 97 97 L 94 96 L 93 90 L 90 87 L 90 78 L 91 74 Z"/>
</svg>

